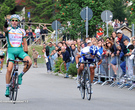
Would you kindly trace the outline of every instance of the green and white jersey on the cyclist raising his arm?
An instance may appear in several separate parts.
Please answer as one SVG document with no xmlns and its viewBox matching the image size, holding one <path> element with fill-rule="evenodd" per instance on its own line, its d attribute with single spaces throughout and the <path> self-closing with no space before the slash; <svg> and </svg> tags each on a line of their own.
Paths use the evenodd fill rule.
<svg viewBox="0 0 135 110">
<path fill-rule="evenodd" d="M 6 33 L 6 37 L 8 42 L 8 48 L 13 47 L 23 48 L 22 42 L 23 38 L 26 35 L 25 30 L 19 27 L 17 27 L 16 29 L 13 27 L 8 27 L 7 30 L 8 32 Z"/>
</svg>

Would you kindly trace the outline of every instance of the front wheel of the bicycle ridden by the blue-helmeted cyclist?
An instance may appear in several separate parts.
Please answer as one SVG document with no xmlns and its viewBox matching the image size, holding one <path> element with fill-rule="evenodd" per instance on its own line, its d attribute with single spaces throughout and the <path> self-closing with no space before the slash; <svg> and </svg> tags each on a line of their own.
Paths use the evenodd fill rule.
<svg viewBox="0 0 135 110">
<path fill-rule="evenodd" d="M 92 94 L 91 93 L 91 80 L 90 80 L 90 75 L 88 74 L 88 78 L 86 80 L 86 96 L 88 100 L 91 99 L 91 94 Z"/>
</svg>

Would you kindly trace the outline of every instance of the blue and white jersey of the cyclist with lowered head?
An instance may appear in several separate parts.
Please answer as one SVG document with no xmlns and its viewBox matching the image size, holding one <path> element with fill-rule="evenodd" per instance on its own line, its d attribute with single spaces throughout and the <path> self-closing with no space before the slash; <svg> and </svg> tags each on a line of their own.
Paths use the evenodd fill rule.
<svg viewBox="0 0 135 110">
<path fill-rule="evenodd" d="M 90 47 L 84 47 L 82 50 L 81 50 L 81 53 L 80 53 L 80 56 L 81 56 L 81 62 L 84 60 L 84 61 L 86 61 L 86 60 L 88 60 L 89 62 L 94 62 L 95 61 L 95 58 L 93 59 L 93 58 L 91 58 L 91 56 L 90 56 Z M 96 53 L 96 58 L 98 59 L 98 60 L 100 60 L 101 59 L 101 55 L 100 55 L 100 53 L 99 53 L 99 51 Z"/>
</svg>

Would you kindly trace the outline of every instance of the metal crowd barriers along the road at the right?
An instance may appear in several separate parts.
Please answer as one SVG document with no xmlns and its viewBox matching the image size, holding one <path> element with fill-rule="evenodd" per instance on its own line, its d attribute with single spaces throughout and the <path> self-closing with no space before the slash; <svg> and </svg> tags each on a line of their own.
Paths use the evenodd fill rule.
<svg viewBox="0 0 135 110">
<path fill-rule="evenodd" d="M 97 67 L 97 70 L 99 70 L 99 71 L 97 74 L 97 80 L 95 81 L 94 84 L 101 84 L 101 86 L 104 86 L 106 84 L 110 84 L 110 87 L 114 87 L 114 86 L 118 86 L 118 88 L 128 87 L 128 90 L 132 90 L 133 88 L 135 88 L 135 56 L 134 56 L 134 60 L 131 60 L 131 61 L 128 61 L 129 57 L 126 57 L 126 59 L 125 59 L 125 61 L 126 61 L 126 74 L 125 75 L 122 74 L 122 70 L 120 68 L 120 64 L 121 64 L 120 57 L 116 56 L 116 59 L 117 59 L 116 80 L 114 80 L 114 78 L 113 78 L 114 73 L 113 73 L 112 68 L 111 68 L 112 58 L 111 58 L 111 56 L 108 56 L 108 57 L 104 56 L 102 59 L 103 60 L 102 65 L 104 65 L 103 68 L 104 68 L 106 75 L 102 74 L 101 68 L 100 68 L 101 66 Z M 129 66 L 131 66 L 131 65 L 133 67 L 132 68 L 133 75 L 129 74 L 129 71 L 130 71 Z M 102 82 L 101 78 L 104 78 L 105 81 Z"/>
</svg>

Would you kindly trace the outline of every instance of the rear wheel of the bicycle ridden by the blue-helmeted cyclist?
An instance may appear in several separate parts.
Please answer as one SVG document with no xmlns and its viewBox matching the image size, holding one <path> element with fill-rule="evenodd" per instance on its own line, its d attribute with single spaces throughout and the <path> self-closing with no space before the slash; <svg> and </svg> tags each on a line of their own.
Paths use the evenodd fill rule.
<svg viewBox="0 0 135 110">
<path fill-rule="evenodd" d="M 81 77 L 81 84 L 80 84 L 80 92 L 81 92 L 81 97 L 82 97 L 82 99 L 84 99 L 85 98 L 85 76 L 84 76 L 85 74 L 84 74 L 84 72 L 83 72 L 83 74 L 82 74 L 82 77 Z"/>
</svg>

